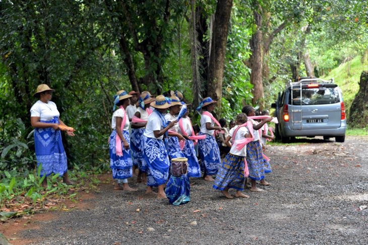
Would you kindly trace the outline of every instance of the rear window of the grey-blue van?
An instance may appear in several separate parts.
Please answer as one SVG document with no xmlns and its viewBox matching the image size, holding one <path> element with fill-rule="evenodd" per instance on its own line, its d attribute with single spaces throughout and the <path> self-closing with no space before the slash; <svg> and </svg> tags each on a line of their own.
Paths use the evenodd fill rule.
<svg viewBox="0 0 368 245">
<path fill-rule="evenodd" d="M 339 92 L 337 87 L 319 87 L 319 88 L 302 88 L 301 97 L 300 89 L 289 89 L 289 105 L 324 105 L 335 104 L 340 102 Z"/>
</svg>

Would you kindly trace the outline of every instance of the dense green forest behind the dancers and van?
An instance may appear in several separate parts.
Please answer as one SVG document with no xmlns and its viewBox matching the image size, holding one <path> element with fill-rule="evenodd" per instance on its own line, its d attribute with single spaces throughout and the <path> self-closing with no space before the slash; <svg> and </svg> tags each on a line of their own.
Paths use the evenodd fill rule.
<svg viewBox="0 0 368 245">
<path fill-rule="evenodd" d="M 29 110 L 39 84 L 55 89 L 77 130 L 63 137 L 69 165 L 101 170 L 121 89 L 177 90 L 194 106 L 211 96 L 230 120 L 246 104 L 270 109 L 290 79 L 343 67 L 334 78 L 349 113 L 367 30 L 365 1 L 0 1 L 0 192 L 36 167 Z"/>
</svg>

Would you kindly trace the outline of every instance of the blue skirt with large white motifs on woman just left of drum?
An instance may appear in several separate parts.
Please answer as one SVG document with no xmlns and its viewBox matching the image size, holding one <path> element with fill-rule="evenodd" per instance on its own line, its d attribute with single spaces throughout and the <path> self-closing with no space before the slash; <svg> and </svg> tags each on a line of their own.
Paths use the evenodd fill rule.
<svg viewBox="0 0 368 245">
<path fill-rule="evenodd" d="M 163 140 L 144 137 L 143 157 L 147 162 L 147 186 L 164 185 L 169 176 L 170 161 Z"/>
</svg>

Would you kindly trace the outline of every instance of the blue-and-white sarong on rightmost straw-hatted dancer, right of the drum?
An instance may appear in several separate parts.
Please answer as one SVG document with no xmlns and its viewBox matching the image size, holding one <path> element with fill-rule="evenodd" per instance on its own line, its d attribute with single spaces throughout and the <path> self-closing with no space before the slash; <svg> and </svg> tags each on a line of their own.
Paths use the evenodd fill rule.
<svg viewBox="0 0 368 245">
<path fill-rule="evenodd" d="M 206 135 L 205 139 L 199 139 L 199 156 L 202 160 L 204 175 L 216 175 L 221 164 L 220 150 L 213 135 L 199 132 L 198 135 Z"/>
</svg>

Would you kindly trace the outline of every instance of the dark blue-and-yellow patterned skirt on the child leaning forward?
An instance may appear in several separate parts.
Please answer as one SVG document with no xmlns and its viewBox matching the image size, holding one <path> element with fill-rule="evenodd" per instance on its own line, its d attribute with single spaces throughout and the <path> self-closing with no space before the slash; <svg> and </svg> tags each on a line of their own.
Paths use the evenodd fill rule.
<svg viewBox="0 0 368 245">
<path fill-rule="evenodd" d="M 218 169 L 213 188 L 221 191 L 227 188 L 242 191 L 245 180 L 244 156 L 227 153 Z"/>
</svg>

